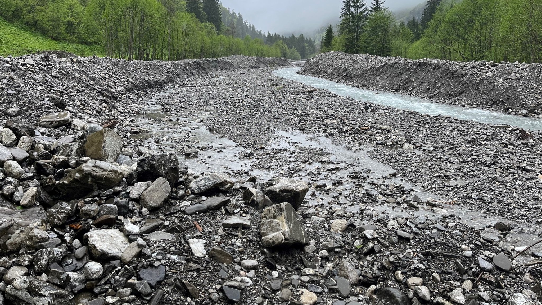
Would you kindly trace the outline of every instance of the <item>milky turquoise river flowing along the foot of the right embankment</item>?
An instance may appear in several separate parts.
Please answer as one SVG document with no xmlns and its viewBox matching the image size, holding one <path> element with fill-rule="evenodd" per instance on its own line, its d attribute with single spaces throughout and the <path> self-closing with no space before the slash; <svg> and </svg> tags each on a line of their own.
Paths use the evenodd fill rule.
<svg viewBox="0 0 542 305">
<path fill-rule="evenodd" d="M 286 68 L 274 70 L 273 74 L 288 80 L 302 82 L 305 85 L 327 89 L 339 96 L 350 96 L 358 101 L 370 101 L 393 108 L 415 111 L 422 114 L 453 116 L 460 120 L 473 120 L 493 125 L 510 125 L 530 130 L 542 130 L 542 119 L 509 115 L 500 112 L 475 108 L 464 108 L 442 103 L 433 103 L 408 95 L 372 92 L 371 90 L 347 86 L 333 81 L 319 79 L 307 75 L 296 74 L 301 68 Z"/>
</svg>

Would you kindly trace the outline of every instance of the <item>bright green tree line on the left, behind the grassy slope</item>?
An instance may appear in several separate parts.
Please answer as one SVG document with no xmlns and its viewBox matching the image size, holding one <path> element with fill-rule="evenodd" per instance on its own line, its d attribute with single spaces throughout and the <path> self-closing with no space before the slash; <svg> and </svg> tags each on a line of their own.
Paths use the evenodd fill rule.
<svg viewBox="0 0 542 305">
<path fill-rule="evenodd" d="M 218 0 L 0 0 L 0 8 L 10 22 L 127 60 L 292 55 Z"/>
</svg>

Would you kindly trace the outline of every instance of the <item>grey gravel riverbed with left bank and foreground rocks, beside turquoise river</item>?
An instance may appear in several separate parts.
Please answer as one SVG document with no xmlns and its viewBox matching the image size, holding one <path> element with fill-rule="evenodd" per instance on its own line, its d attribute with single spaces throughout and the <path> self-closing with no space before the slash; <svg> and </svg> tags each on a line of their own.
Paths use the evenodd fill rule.
<svg viewBox="0 0 542 305">
<path fill-rule="evenodd" d="M 0 61 L 0 304 L 542 300 L 537 130 L 285 60 Z"/>
</svg>

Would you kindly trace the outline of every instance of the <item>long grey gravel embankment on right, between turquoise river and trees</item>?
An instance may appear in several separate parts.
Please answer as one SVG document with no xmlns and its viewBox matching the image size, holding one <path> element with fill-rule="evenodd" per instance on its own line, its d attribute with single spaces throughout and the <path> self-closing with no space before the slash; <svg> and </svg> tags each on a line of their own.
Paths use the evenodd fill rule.
<svg viewBox="0 0 542 305">
<path fill-rule="evenodd" d="M 308 60 L 300 73 L 450 105 L 542 115 L 540 63 L 409 60 L 328 52 Z"/>
</svg>

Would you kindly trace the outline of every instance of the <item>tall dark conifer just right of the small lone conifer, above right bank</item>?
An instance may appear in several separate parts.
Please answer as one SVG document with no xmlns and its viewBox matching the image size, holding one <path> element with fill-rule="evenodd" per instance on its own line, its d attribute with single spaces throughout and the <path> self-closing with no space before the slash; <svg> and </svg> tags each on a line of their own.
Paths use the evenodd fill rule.
<svg viewBox="0 0 542 305">
<path fill-rule="evenodd" d="M 344 51 L 355 54 L 359 50 L 359 39 L 367 23 L 367 4 L 363 0 L 344 0 L 341 10 L 339 35 L 344 36 Z"/>
</svg>

